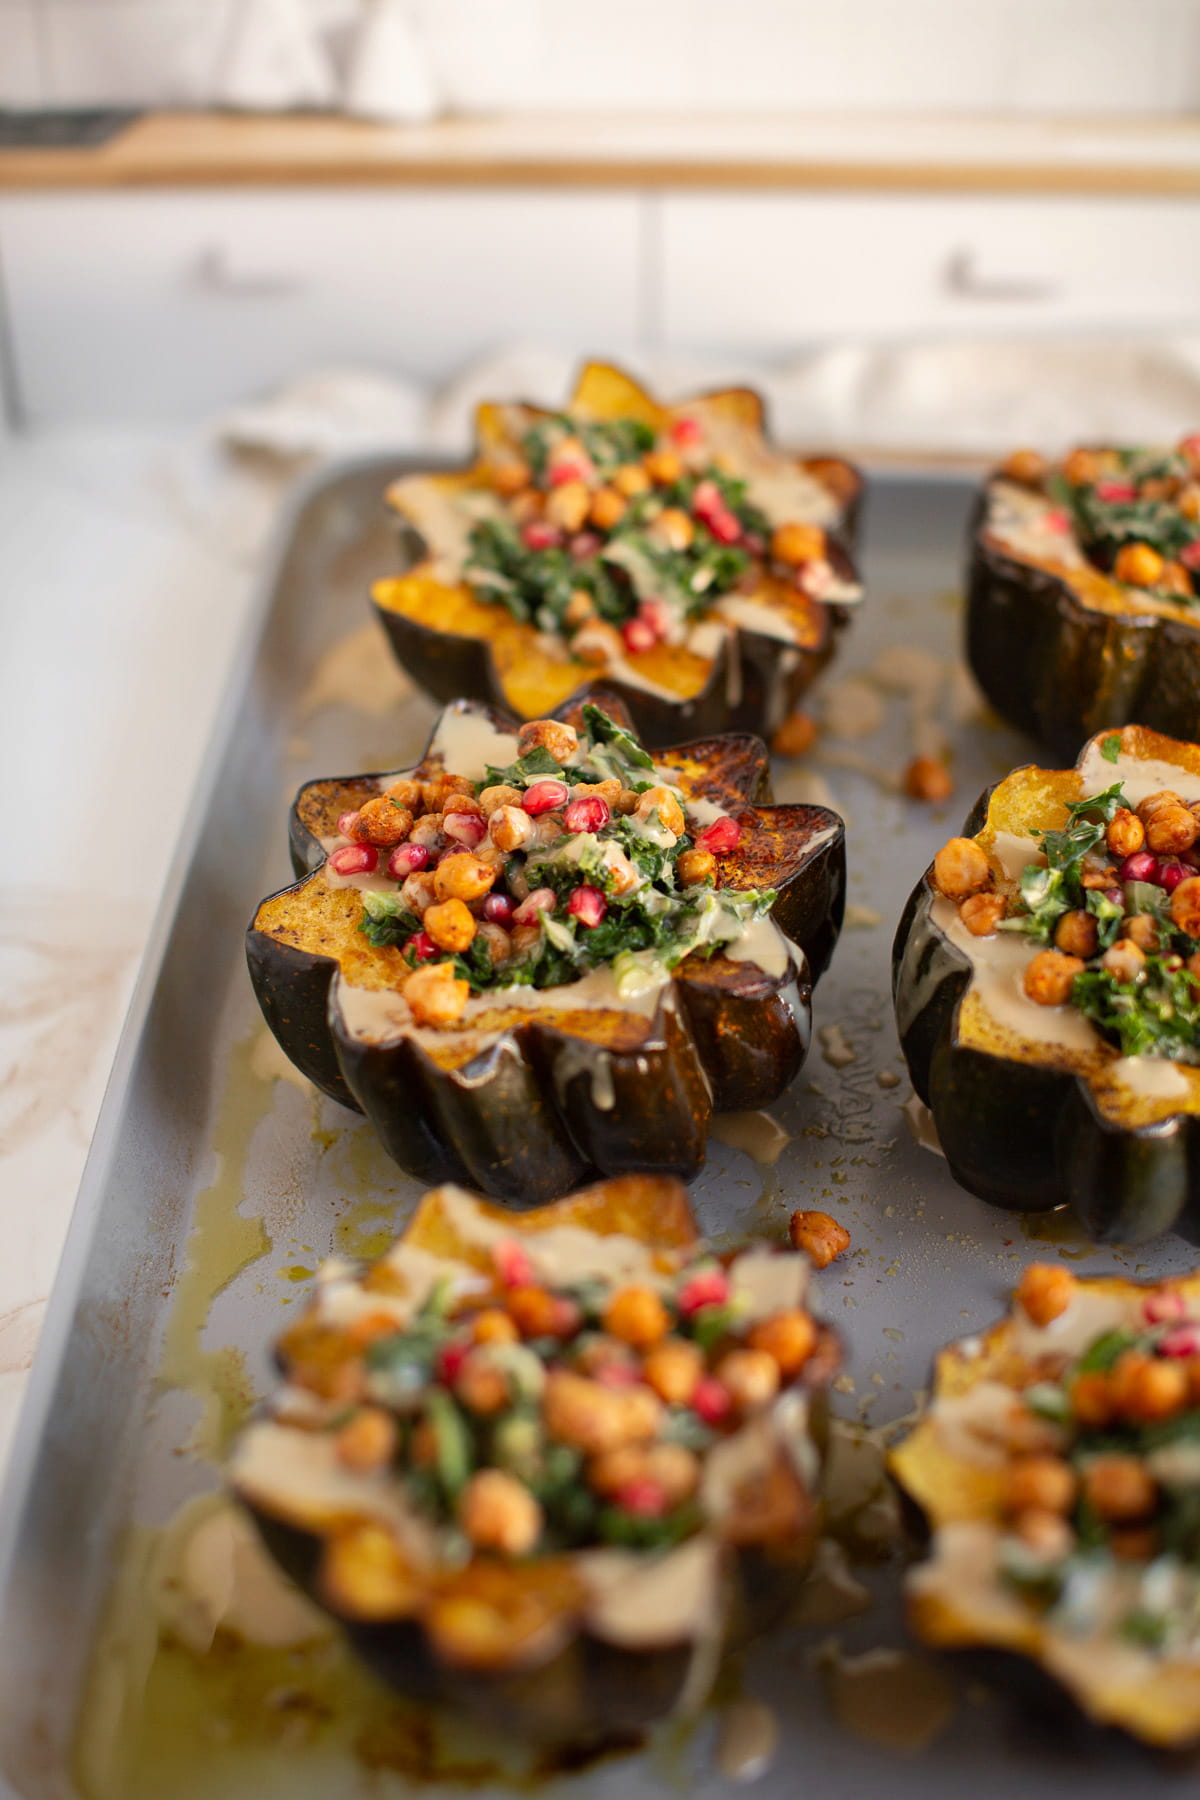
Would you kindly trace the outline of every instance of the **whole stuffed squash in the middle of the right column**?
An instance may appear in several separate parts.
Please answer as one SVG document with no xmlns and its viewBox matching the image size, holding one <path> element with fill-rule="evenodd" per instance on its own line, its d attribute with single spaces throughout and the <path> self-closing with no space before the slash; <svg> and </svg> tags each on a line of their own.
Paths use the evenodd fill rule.
<svg viewBox="0 0 1200 1800">
<path fill-rule="evenodd" d="M 918 882 L 900 1042 L 981 1199 L 1200 1242 L 1196 806 L 1200 749 L 1126 725 L 1074 769 L 1013 770 Z"/>
</svg>

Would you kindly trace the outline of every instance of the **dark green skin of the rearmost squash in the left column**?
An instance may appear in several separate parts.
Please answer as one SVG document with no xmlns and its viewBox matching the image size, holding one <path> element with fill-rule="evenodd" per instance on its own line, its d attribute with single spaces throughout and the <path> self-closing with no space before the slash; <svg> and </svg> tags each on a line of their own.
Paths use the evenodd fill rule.
<svg viewBox="0 0 1200 1800">
<path fill-rule="evenodd" d="M 829 562 L 846 580 L 856 578 L 846 542 L 853 542 L 860 495 L 862 488 L 844 513 L 838 536 L 829 544 Z M 405 569 L 412 569 L 423 556 L 421 538 L 410 526 L 401 524 L 399 540 Z M 482 700 L 498 711 L 511 711 L 491 648 L 482 637 L 437 632 L 434 626 L 408 619 L 376 601 L 372 607 L 387 632 L 396 661 L 434 700 L 443 704 L 457 698 Z M 606 691 L 621 698 L 633 729 L 651 751 L 678 743 L 685 736 L 709 736 L 725 731 L 770 733 L 793 711 L 831 661 L 837 639 L 851 612 L 853 607 L 826 607 L 826 630 L 820 643 L 802 650 L 761 632 L 738 630 L 721 650 L 709 680 L 691 700 L 669 700 L 613 677 L 603 677 L 603 684 Z M 795 662 L 784 668 L 788 650 L 793 650 Z M 732 655 L 738 657 L 738 670 L 730 675 Z M 578 704 L 594 686 L 594 682 L 583 682 L 578 693 L 563 704 Z"/>
</svg>

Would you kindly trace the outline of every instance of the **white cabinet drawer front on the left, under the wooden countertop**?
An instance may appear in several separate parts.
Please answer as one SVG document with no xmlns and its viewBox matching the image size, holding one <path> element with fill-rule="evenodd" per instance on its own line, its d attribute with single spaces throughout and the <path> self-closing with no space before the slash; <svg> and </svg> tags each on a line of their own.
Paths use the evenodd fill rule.
<svg viewBox="0 0 1200 1800">
<path fill-rule="evenodd" d="M 626 353 L 637 194 L 18 194 L 0 254 L 25 418 L 196 418 L 313 365 L 423 382 L 524 340 Z"/>
</svg>

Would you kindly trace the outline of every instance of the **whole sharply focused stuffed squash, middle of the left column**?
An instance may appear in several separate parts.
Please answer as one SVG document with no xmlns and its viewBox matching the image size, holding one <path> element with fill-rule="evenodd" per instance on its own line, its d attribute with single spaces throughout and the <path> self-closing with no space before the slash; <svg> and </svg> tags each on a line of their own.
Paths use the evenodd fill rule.
<svg viewBox="0 0 1200 1800">
<path fill-rule="evenodd" d="M 842 821 L 770 805 L 757 738 L 651 761 L 619 702 L 606 707 L 576 707 L 579 734 L 545 720 L 518 742 L 511 720 L 459 702 L 416 772 L 311 781 L 293 805 L 302 878 L 255 913 L 255 994 L 297 1067 L 360 1107 L 419 1179 L 529 1206 L 596 1174 L 693 1175 L 711 1114 L 770 1103 L 804 1060 L 811 981 L 842 922 Z M 576 761 L 560 767 L 536 742 L 547 736 Z M 488 785 L 488 765 L 522 788 Z M 448 778 L 470 792 L 443 796 Z M 497 806 L 502 788 L 522 805 Z M 380 808 L 387 826 L 396 794 L 446 808 L 403 814 L 399 830 L 428 844 L 403 895 L 387 869 L 408 844 L 389 851 L 385 830 L 385 848 L 360 857 L 338 835 Z M 502 828 L 506 846 L 524 844 L 515 859 L 497 853 Z M 360 860 L 374 873 L 340 873 Z"/>
</svg>

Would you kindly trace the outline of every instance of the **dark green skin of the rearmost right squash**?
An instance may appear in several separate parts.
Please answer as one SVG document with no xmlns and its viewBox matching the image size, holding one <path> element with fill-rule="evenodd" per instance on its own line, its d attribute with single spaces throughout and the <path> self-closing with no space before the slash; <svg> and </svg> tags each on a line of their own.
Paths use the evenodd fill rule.
<svg viewBox="0 0 1200 1800">
<path fill-rule="evenodd" d="M 970 531 L 966 659 L 1000 718 L 1065 763 L 1115 725 L 1193 740 L 1200 722 L 1196 625 L 1085 607 L 1060 576 L 995 549 L 988 499 Z"/>
</svg>

